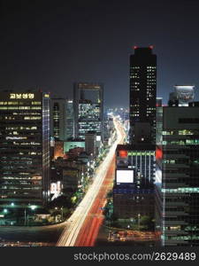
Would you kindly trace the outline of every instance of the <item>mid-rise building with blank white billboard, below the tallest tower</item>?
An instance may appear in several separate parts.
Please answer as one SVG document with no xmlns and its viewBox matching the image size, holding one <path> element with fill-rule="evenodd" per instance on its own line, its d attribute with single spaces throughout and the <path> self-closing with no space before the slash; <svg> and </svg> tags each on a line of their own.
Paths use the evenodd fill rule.
<svg viewBox="0 0 199 266">
<path fill-rule="evenodd" d="M 114 214 L 137 219 L 154 215 L 154 145 L 118 145 L 113 188 Z"/>
</svg>

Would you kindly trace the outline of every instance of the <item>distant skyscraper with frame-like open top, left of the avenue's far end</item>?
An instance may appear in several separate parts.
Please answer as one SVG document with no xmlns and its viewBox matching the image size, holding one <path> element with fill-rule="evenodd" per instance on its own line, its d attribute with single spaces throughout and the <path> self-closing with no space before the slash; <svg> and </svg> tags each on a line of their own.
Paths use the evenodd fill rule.
<svg viewBox="0 0 199 266">
<path fill-rule="evenodd" d="M 96 131 L 96 141 L 103 140 L 103 85 L 75 83 L 73 88 L 75 137 L 85 139 Z"/>
</svg>

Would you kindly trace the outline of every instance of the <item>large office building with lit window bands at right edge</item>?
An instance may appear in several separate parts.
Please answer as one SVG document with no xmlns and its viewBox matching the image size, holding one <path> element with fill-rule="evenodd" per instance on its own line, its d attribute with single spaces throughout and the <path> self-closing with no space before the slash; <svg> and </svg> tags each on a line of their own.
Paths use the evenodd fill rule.
<svg viewBox="0 0 199 266">
<path fill-rule="evenodd" d="M 169 103 L 157 144 L 156 230 L 163 246 L 199 246 L 199 104 Z"/>
</svg>

